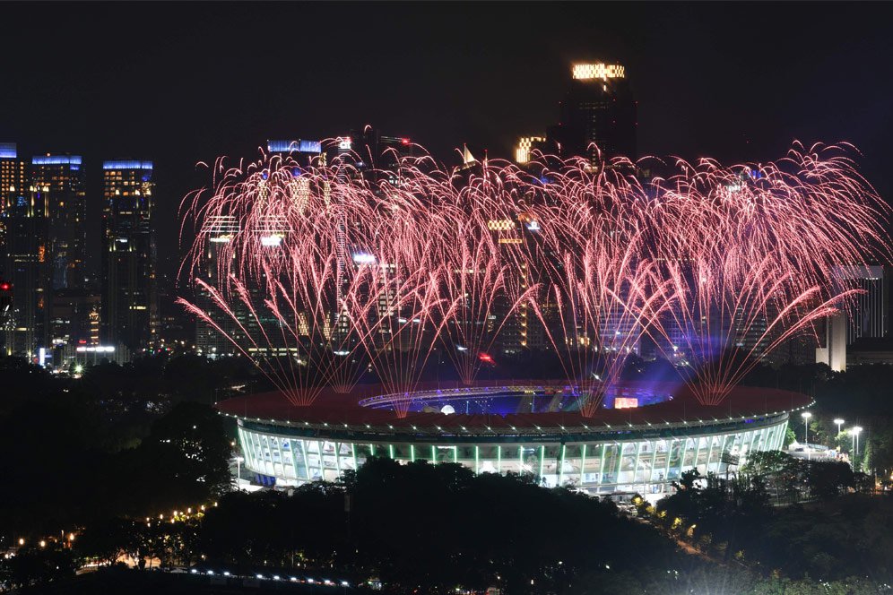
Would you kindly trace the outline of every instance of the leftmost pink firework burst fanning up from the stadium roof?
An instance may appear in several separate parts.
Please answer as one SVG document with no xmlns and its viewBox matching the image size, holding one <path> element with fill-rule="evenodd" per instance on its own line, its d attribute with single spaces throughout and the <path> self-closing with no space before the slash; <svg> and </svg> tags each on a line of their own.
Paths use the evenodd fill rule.
<svg viewBox="0 0 893 595">
<path fill-rule="evenodd" d="M 200 274 L 198 299 L 180 302 L 296 405 L 325 385 L 349 391 L 363 360 L 343 308 L 351 197 L 338 194 L 360 189 L 333 184 L 338 174 L 272 158 L 228 172 L 194 211 L 202 227 L 186 266 Z"/>
</svg>

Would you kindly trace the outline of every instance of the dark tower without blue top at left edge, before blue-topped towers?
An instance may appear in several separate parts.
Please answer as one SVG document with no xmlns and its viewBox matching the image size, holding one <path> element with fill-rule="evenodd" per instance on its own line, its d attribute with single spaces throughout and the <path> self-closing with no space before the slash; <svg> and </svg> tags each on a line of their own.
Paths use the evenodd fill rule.
<svg viewBox="0 0 893 595">
<path fill-rule="evenodd" d="M 4 282 L 12 289 L 4 351 L 34 358 L 48 348 L 48 192 L 35 186 L 10 187 L 2 218 Z"/>
</svg>

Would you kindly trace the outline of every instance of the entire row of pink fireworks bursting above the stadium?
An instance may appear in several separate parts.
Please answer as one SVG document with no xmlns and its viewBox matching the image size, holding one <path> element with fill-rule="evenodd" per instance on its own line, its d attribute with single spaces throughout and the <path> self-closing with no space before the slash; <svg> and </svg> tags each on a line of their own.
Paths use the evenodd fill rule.
<svg viewBox="0 0 893 595">
<path fill-rule="evenodd" d="M 219 161 L 212 192 L 184 202 L 196 297 L 180 302 L 295 405 L 367 370 L 409 394 L 437 351 L 473 384 L 500 333 L 527 347 L 534 325 L 585 417 L 646 342 L 716 405 L 849 306 L 837 267 L 889 262 L 887 207 L 850 152 L 648 178 L 644 162 L 542 155 L 381 175 L 350 156 Z"/>
</svg>

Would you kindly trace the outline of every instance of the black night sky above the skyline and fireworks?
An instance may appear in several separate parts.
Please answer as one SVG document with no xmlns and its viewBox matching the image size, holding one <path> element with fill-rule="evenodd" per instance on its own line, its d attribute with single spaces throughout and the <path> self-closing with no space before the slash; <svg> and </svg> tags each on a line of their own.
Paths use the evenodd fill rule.
<svg viewBox="0 0 893 595">
<path fill-rule="evenodd" d="M 850 141 L 889 168 L 889 5 L 2 4 L 0 141 L 81 153 L 98 248 L 100 161 L 152 159 L 160 257 L 200 160 L 366 123 L 442 159 L 508 156 L 557 116 L 569 64 L 625 65 L 643 154 L 773 160 Z"/>
</svg>

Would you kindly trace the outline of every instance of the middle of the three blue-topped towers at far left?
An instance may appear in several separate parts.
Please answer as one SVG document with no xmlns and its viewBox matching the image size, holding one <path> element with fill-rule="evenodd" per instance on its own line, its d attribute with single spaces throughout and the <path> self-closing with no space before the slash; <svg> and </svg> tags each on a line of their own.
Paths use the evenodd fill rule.
<svg viewBox="0 0 893 595">
<path fill-rule="evenodd" d="M 48 193 L 48 259 L 53 289 L 82 288 L 87 272 L 86 177 L 78 155 L 31 159 L 31 184 Z"/>
</svg>

